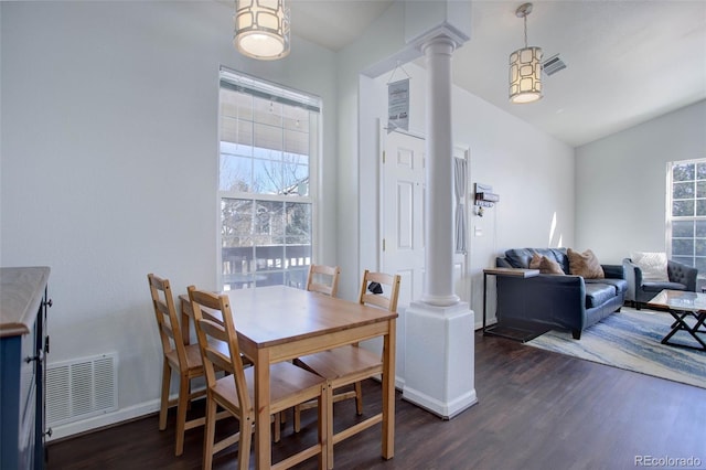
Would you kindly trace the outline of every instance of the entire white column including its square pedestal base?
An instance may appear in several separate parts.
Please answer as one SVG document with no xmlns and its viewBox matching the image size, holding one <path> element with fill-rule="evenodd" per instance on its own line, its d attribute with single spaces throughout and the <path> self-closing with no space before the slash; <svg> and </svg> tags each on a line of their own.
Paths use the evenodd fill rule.
<svg viewBox="0 0 706 470">
<path fill-rule="evenodd" d="M 425 291 L 405 311 L 403 398 L 443 418 L 478 402 L 474 387 L 474 314 L 453 293 L 453 138 L 448 34 L 430 33 L 427 61 L 427 226 Z"/>
</svg>

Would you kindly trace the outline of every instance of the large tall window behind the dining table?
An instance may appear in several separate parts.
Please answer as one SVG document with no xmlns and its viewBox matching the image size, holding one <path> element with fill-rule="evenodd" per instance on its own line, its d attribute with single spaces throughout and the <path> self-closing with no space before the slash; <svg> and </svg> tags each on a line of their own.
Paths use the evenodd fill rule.
<svg viewBox="0 0 706 470">
<path fill-rule="evenodd" d="M 221 71 L 223 290 L 304 285 L 311 263 L 318 98 Z"/>
</svg>

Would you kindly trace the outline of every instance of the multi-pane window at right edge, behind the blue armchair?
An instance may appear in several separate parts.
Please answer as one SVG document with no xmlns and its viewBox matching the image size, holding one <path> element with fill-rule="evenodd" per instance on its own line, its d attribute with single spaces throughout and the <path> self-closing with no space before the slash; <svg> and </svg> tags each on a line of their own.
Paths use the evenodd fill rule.
<svg viewBox="0 0 706 470">
<path fill-rule="evenodd" d="M 667 246 L 675 261 L 706 274 L 706 159 L 671 162 Z"/>
</svg>

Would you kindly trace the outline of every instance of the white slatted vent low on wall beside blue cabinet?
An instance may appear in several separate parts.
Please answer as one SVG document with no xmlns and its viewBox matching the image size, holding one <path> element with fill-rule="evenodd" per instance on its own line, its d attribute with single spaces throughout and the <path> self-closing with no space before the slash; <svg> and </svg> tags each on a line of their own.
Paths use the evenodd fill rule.
<svg viewBox="0 0 706 470">
<path fill-rule="evenodd" d="M 118 409 L 118 355 L 49 364 L 46 424 L 58 426 Z"/>
</svg>

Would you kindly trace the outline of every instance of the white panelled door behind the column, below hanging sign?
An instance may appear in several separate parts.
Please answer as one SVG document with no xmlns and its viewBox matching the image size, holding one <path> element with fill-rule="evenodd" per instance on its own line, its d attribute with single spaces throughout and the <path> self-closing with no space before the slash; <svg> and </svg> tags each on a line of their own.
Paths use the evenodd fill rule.
<svg viewBox="0 0 706 470">
<path fill-rule="evenodd" d="M 383 139 L 382 269 L 402 276 L 399 305 L 408 306 L 424 293 L 425 140 L 399 131 L 386 133 Z M 468 150 L 454 148 L 453 156 L 468 160 Z M 449 184 L 453 182 L 449 181 Z M 466 202 L 468 207 L 468 201 Z M 453 210 L 454 207 L 449 207 L 449 211 Z M 467 277 L 467 256 L 456 254 L 454 293 L 462 301 L 469 301 L 470 297 Z"/>
</svg>

